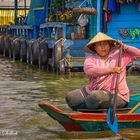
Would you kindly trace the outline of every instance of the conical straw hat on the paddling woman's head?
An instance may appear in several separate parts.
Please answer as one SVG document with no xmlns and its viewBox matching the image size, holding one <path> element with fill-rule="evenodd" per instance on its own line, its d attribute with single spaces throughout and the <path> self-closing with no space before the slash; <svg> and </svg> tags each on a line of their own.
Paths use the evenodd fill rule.
<svg viewBox="0 0 140 140">
<path fill-rule="evenodd" d="M 110 41 L 110 42 L 115 42 L 116 40 L 114 40 L 113 38 L 107 36 L 104 33 L 99 32 L 98 34 L 96 34 L 96 36 L 94 36 L 89 43 L 84 47 L 84 51 L 87 53 L 93 53 L 93 51 L 90 49 L 90 47 L 94 47 L 95 43 L 98 42 L 102 42 L 102 41 Z"/>
</svg>

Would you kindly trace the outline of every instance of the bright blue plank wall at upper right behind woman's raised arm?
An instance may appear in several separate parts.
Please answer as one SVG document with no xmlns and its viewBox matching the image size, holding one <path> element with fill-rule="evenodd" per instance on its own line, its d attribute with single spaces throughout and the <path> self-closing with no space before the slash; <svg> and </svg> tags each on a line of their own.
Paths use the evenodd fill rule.
<svg viewBox="0 0 140 140">
<path fill-rule="evenodd" d="M 107 34 L 111 37 L 122 40 L 125 44 L 140 48 L 140 37 L 134 39 L 128 34 L 127 38 L 122 38 L 119 35 L 119 29 L 125 28 L 128 31 L 132 28 L 138 28 L 140 30 L 140 11 L 138 3 L 125 3 L 121 4 L 120 14 L 117 12 L 112 14 L 112 21 L 107 24 Z"/>
</svg>

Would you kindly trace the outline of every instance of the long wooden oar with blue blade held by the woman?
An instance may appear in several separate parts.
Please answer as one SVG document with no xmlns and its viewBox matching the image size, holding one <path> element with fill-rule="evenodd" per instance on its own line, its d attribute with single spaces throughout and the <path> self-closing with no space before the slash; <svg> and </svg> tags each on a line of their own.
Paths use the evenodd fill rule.
<svg viewBox="0 0 140 140">
<path fill-rule="evenodd" d="M 120 50 L 119 50 L 118 67 L 121 67 L 121 59 L 122 59 L 122 46 L 120 47 Z M 117 73 L 115 94 L 114 94 L 114 106 L 112 108 L 108 109 L 107 117 L 106 117 L 108 126 L 115 134 L 118 133 L 118 121 L 117 121 L 117 117 L 116 117 L 116 106 L 117 106 L 119 78 L 120 78 L 120 74 Z"/>
</svg>

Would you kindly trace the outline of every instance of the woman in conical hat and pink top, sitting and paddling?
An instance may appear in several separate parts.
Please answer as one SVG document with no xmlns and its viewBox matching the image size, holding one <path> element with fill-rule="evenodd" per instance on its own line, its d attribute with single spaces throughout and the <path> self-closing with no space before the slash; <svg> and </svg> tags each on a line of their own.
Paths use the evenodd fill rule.
<svg viewBox="0 0 140 140">
<path fill-rule="evenodd" d="M 120 47 L 123 47 L 123 54 L 121 67 L 118 67 Z M 92 54 L 84 62 L 84 72 L 89 83 L 85 88 L 76 89 L 67 94 L 68 105 L 73 110 L 112 107 L 116 77 L 119 73 L 117 108 L 126 107 L 129 102 L 126 66 L 130 62 L 140 59 L 140 50 L 99 32 L 84 47 L 84 51 Z"/>
</svg>

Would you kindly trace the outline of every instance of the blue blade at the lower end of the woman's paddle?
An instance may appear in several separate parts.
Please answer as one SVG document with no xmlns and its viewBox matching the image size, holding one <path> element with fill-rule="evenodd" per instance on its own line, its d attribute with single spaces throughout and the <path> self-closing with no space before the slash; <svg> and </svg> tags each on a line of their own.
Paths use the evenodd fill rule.
<svg viewBox="0 0 140 140">
<path fill-rule="evenodd" d="M 107 124 L 108 124 L 109 128 L 112 130 L 112 132 L 117 134 L 118 133 L 117 117 L 116 117 L 116 115 L 114 115 L 114 119 L 113 119 L 113 122 L 112 122 L 111 116 L 112 116 L 112 109 L 109 108 L 108 111 L 107 111 L 106 121 L 107 121 Z"/>
</svg>

